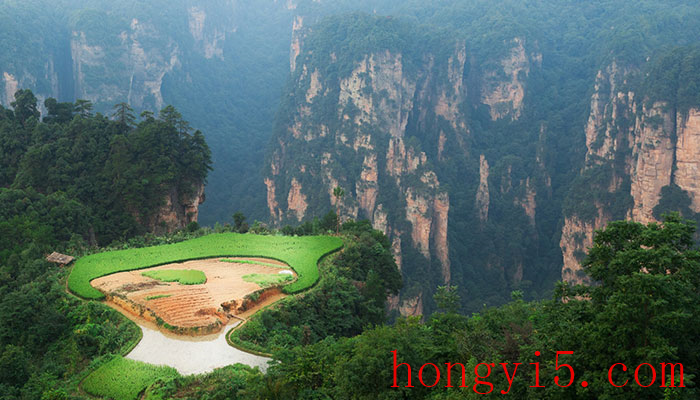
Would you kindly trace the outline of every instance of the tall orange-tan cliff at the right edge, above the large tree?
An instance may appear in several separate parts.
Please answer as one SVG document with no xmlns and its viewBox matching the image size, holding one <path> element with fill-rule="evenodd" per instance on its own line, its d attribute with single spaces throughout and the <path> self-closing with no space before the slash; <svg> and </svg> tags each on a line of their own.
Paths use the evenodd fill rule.
<svg viewBox="0 0 700 400">
<path fill-rule="evenodd" d="M 591 210 L 565 217 L 560 241 L 562 278 L 584 281 L 580 261 L 593 244 L 594 231 L 611 220 L 658 222 L 655 208 L 664 188 L 676 185 L 689 197 L 690 209 L 700 210 L 700 113 L 678 112 L 667 101 L 637 99 L 627 83 L 638 71 L 616 63 L 599 71 L 586 127 L 586 165 L 581 175 L 598 174 L 574 190 L 591 192 Z M 602 178 L 601 178 L 602 177 Z M 666 211 L 666 210 L 661 210 Z"/>
</svg>

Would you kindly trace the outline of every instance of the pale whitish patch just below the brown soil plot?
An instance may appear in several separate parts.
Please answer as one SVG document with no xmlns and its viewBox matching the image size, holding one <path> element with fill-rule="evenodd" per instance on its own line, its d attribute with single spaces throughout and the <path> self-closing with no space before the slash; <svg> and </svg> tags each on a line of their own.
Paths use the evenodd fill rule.
<svg viewBox="0 0 700 400">
<path fill-rule="evenodd" d="M 126 358 L 155 365 L 168 365 L 182 375 L 211 372 L 215 368 L 230 364 L 247 364 L 267 370 L 270 358 L 240 351 L 226 343 L 226 332 L 198 338 L 176 338 L 166 336 L 158 330 L 139 324 L 143 339 Z"/>
</svg>

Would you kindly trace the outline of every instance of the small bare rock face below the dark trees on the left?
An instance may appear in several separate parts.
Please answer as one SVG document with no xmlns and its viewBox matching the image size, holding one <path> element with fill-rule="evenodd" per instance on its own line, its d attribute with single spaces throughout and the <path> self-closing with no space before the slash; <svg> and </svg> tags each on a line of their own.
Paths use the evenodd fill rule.
<svg viewBox="0 0 700 400">
<path fill-rule="evenodd" d="M 199 205 L 204 202 L 204 184 L 199 184 L 189 195 L 178 193 L 171 188 L 163 204 L 148 221 L 142 221 L 149 232 L 163 234 L 186 227 L 197 221 Z"/>
</svg>

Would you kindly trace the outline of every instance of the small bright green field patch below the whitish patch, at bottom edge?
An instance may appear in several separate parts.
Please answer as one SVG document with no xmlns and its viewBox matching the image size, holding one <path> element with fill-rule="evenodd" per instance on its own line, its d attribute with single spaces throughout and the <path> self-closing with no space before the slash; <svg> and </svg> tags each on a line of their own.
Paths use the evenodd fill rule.
<svg viewBox="0 0 700 400">
<path fill-rule="evenodd" d="M 133 400 L 157 379 L 177 376 L 179 374 L 171 367 L 156 366 L 115 356 L 88 375 L 81 387 L 93 396 L 114 400 Z"/>
</svg>

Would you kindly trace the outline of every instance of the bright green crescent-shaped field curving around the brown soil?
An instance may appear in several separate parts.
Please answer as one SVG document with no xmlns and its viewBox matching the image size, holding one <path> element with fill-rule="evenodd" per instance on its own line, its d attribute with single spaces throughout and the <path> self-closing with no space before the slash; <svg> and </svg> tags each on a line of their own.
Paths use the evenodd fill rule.
<svg viewBox="0 0 700 400">
<path fill-rule="evenodd" d="M 70 290 L 86 299 L 104 295 L 90 281 L 115 272 L 209 257 L 266 257 L 289 264 L 298 279 L 284 287 L 287 293 L 309 288 L 318 280 L 317 263 L 343 242 L 333 236 L 263 236 L 218 233 L 180 243 L 92 254 L 76 261 L 68 277 Z"/>
</svg>

